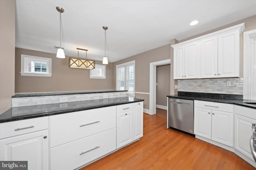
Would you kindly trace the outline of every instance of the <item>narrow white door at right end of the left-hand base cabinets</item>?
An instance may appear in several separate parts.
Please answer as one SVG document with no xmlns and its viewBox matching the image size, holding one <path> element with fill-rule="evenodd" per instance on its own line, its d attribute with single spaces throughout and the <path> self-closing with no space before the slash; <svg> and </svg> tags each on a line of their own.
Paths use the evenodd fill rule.
<svg viewBox="0 0 256 170">
<path fill-rule="evenodd" d="M 133 140 L 143 136 L 143 102 L 133 104 Z"/>
</svg>

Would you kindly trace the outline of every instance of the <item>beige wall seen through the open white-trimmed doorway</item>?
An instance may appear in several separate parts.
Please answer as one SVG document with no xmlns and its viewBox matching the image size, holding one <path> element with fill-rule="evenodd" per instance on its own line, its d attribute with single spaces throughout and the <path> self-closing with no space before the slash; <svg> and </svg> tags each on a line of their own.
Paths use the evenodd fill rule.
<svg viewBox="0 0 256 170">
<path fill-rule="evenodd" d="M 156 104 L 167 106 L 166 96 L 170 95 L 170 64 L 156 66 Z"/>
</svg>

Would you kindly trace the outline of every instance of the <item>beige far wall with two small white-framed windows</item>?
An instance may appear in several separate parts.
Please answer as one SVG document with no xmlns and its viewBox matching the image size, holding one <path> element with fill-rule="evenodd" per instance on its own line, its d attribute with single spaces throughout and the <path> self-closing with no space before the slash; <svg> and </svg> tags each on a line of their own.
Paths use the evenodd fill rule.
<svg viewBox="0 0 256 170">
<path fill-rule="evenodd" d="M 52 76 L 36 77 L 20 75 L 20 55 L 52 58 Z M 106 79 L 90 79 L 90 70 L 69 68 L 68 58 L 56 58 L 56 54 L 15 49 L 15 92 L 62 92 L 112 89 L 112 63 L 106 65 Z M 96 61 L 102 64 L 102 61 Z"/>
</svg>

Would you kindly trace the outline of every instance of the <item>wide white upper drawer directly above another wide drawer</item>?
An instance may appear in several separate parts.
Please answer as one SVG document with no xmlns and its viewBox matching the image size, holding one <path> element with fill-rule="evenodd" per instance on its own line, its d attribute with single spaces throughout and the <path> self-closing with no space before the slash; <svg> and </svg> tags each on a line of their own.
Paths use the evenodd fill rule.
<svg viewBox="0 0 256 170">
<path fill-rule="evenodd" d="M 50 147 L 116 127 L 116 106 L 50 116 Z"/>
</svg>

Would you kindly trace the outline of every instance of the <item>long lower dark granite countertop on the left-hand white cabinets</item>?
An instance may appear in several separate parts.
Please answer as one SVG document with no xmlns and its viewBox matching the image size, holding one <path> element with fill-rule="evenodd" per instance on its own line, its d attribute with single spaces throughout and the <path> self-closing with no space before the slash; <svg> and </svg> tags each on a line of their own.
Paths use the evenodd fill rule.
<svg viewBox="0 0 256 170">
<path fill-rule="evenodd" d="M 36 106 L 12 107 L 11 109 L 0 114 L 0 123 L 18 121 L 23 119 L 32 119 L 36 117 L 44 117 L 58 115 L 74 111 L 82 111 L 96 109 L 100 107 L 116 106 L 121 104 L 142 102 L 143 99 L 122 97 L 108 98 L 99 100 L 87 100 L 81 102 L 68 102 L 58 104 L 42 104 Z"/>
</svg>

